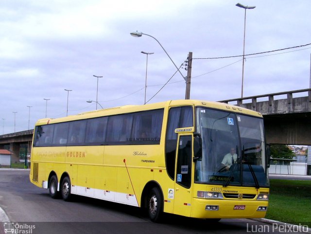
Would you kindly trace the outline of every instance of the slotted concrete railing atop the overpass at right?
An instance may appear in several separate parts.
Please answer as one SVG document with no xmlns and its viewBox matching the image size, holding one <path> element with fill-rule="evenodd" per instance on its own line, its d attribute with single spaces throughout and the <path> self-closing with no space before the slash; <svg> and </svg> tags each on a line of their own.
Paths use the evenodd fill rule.
<svg viewBox="0 0 311 234">
<path fill-rule="evenodd" d="M 223 100 L 223 101 L 219 101 L 219 102 L 226 103 L 226 104 L 228 104 L 229 102 L 237 102 L 237 106 L 241 106 L 243 104 L 243 100 L 252 100 L 252 106 L 256 107 L 256 103 L 257 103 L 258 98 L 267 97 L 268 102 L 269 102 L 269 106 L 272 106 L 272 103 L 274 101 L 275 96 L 287 95 L 287 103 L 291 104 L 291 103 L 293 103 L 293 93 L 303 93 L 303 92 L 308 92 L 308 101 L 311 102 L 311 89 L 292 90 L 292 91 L 286 91 L 286 92 L 275 92 L 275 93 L 269 93 L 269 94 L 263 94 L 263 95 L 257 95 L 257 96 L 228 99 L 228 100 Z"/>
</svg>

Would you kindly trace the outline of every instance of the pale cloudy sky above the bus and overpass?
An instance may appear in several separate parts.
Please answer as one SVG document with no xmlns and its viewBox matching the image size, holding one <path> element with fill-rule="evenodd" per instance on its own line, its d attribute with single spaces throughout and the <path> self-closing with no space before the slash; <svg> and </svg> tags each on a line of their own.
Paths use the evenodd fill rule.
<svg viewBox="0 0 311 234">
<path fill-rule="evenodd" d="M 95 110 L 86 101 L 96 96 L 103 108 L 143 105 L 147 56 L 141 51 L 154 53 L 148 103 L 185 98 L 189 52 L 191 99 L 241 97 L 242 57 L 198 59 L 242 55 L 238 2 L 256 6 L 246 11 L 245 54 L 311 43 L 310 0 L 2 0 L 0 135 L 33 129 L 46 115 L 66 116 L 67 100 L 68 115 Z M 183 64 L 183 76 L 151 36 L 178 68 Z M 311 45 L 245 56 L 243 97 L 308 89 L 310 67 Z M 98 95 L 93 75 L 103 76 Z"/>
</svg>

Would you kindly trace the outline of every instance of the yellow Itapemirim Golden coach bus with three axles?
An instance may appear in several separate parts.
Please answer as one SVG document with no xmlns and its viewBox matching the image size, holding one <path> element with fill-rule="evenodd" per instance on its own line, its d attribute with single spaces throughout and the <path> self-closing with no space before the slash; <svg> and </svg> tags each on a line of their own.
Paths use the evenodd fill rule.
<svg viewBox="0 0 311 234">
<path fill-rule="evenodd" d="M 269 198 L 259 112 L 174 100 L 35 124 L 30 181 L 52 198 L 81 195 L 164 213 L 259 218 Z"/>
</svg>

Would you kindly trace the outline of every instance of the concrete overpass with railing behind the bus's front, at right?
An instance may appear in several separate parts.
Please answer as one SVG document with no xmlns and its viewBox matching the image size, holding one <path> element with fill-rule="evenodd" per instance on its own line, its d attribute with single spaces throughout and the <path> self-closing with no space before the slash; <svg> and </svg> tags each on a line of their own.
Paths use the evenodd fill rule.
<svg viewBox="0 0 311 234">
<path fill-rule="evenodd" d="M 293 94 L 299 97 L 293 97 Z M 220 102 L 262 113 L 266 140 L 269 144 L 311 145 L 311 89 L 277 92 Z"/>
</svg>

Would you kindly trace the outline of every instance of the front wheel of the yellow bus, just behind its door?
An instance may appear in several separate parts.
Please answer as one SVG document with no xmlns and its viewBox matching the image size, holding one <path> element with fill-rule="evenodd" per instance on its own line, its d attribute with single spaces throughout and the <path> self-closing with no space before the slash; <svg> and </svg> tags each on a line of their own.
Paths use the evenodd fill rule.
<svg viewBox="0 0 311 234">
<path fill-rule="evenodd" d="M 153 222 L 159 222 L 162 216 L 163 199 L 159 188 L 154 187 L 148 197 L 148 215 Z"/>
</svg>

